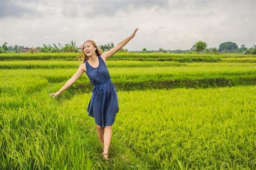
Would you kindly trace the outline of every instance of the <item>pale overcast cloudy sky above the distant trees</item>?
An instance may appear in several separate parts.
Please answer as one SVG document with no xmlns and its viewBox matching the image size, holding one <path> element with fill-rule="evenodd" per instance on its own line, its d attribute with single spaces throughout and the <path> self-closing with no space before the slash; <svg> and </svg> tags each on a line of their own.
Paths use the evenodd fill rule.
<svg viewBox="0 0 256 170">
<path fill-rule="evenodd" d="M 28 47 L 87 39 L 119 42 L 138 28 L 129 51 L 256 44 L 254 0 L 1 0 L 0 43 Z"/>
</svg>

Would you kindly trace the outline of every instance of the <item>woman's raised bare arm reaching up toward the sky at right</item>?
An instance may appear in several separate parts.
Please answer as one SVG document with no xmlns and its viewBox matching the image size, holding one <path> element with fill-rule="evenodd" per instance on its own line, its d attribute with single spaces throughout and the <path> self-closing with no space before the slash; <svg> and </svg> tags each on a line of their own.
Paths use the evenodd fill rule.
<svg viewBox="0 0 256 170">
<path fill-rule="evenodd" d="M 134 30 L 134 32 L 132 33 L 131 36 L 125 38 L 122 42 L 118 43 L 115 47 L 113 47 L 112 49 L 110 49 L 109 51 L 104 52 L 101 56 L 103 58 L 105 58 L 105 60 L 111 56 L 114 55 L 114 53 L 116 53 L 118 50 L 122 49 L 123 46 L 125 46 L 125 44 L 127 44 L 134 36 L 135 33 L 138 31 L 138 28 L 136 28 Z"/>
</svg>

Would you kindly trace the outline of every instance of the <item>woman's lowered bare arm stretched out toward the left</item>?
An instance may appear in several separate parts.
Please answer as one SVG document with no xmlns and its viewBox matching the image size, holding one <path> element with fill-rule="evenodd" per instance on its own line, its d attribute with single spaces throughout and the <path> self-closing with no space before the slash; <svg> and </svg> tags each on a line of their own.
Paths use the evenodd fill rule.
<svg viewBox="0 0 256 170">
<path fill-rule="evenodd" d="M 49 94 L 49 96 L 51 97 L 55 97 L 58 96 L 60 93 L 62 93 L 63 91 L 65 91 L 66 89 L 68 89 L 73 83 L 75 83 L 75 81 L 82 76 L 82 74 L 85 72 L 86 70 L 86 66 L 85 64 L 81 64 L 77 70 L 77 72 L 68 80 L 66 81 L 66 83 L 64 84 L 64 86 L 59 89 L 59 91 Z"/>
</svg>

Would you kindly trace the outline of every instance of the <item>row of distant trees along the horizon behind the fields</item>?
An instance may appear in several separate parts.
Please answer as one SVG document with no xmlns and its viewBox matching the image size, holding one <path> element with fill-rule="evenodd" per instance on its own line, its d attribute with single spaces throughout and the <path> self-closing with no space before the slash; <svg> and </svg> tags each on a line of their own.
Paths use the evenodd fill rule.
<svg viewBox="0 0 256 170">
<path fill-rule="evenodd" d="M 7 46 L 7 43 L 4 43 L 2 46 L 0 46 L 0 53 L 22 53 L 22 52 L 78 52 L 79 47 L 76 46 L 76 42 L 71 40 L 71 43 L 66 43 L 64 45 L 60 45 L 58 43 L 58 46 L 56 44 L 52 44 L 52 45 L 46 45 L 43 44 L 43 47 L 36 47 L 36 48 L 28 48 L 28 47 L 24 47 L 24 46 Z M 113 43 L 107 43 L 105 45 L 99 45 L 99 48 L 105 52 L 108 51 L 110 49 L 112 49 L 114 47 Z M 119 52 L 128 52 L 127 49 L 120 49 Z M 219 48 L 217 49 L 217 47 L 212 47 L 207 49 L 207 44 L 206 42 L 203 41 L 199 41 L 196 44 L 194 44 L 192 46 L 192 48 L 190 50 L 166 50 L 166 49 L 162 49 L 159 48 L 159 50 L 151 50 L 148 51 L 146 48 L 144 48 L 142 51 L 136 51 L 136 52 L 140 52 L 140 53 L 150 53 L 150 52 L 160 52 L 160 53 L 193 53 L 193 52 L 197 52 L 197 53 L 223 53 L 223 52 L 234 52 L 234 53 L 245 53 L 245 54 L 256 54 L 256 45 L 253 45 L 253 47 L 251 47 L 250 49 L 248 49 L 247 47 L 245 47 L 245 45 L 241 45 L 241 47 L 238 47 L 237 44 L 233 43 L 233 42 L 225 42 L 225 43 L 221 43 L 219 45 Z"/>
</svg>

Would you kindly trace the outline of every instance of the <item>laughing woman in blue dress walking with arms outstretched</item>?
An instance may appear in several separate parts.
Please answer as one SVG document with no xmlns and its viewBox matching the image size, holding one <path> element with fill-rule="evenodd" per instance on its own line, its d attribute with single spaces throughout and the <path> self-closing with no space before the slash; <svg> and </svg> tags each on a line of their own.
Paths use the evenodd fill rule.
<svg viewBox="0 0 256 170">
<path fill-rule="evenodd" d="M 88 115 L 95 119 L 99 141 L 103 147 L 102 157 L 109 161 L 109 147 L 112 138 L 112 125 L 119 111 L 116 87 L 112 83 L 109 70 L 106 66 L 107 58 L 127 44 L 136 34 L 138 28 L 131 36 L 118 43 L 113 49 L 102 53 L 93 40 L 86 40 L 82 47 L 80 56 L 84 57 L 83 64 L 78 71 L 64 84 L 56 93 L 49 94 L 56 97 L 85 72 L 93 84 L 92 96 L 87 107 Z M 81 55 L 82 54 L 82 55 Z"/>
</svg>

